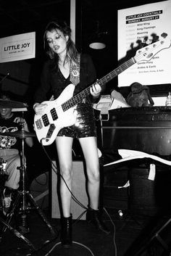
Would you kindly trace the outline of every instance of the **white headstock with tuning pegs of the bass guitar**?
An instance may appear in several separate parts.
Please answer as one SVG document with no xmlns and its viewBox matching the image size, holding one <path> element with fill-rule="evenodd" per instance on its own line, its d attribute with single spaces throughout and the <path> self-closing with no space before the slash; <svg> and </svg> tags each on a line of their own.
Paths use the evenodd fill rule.
<svg viewBox="0 0 171 256">
<path fill-rule="evenodd" d="M 167 38 L 167 33 L 162 33 L 162 39 L 159 41 L 156 41 L 153 44 L 149 44 L 148 46 L 145 46 L 141 49 L 138 49 L 135 54 L 135 61 L 141 62 L 141 61 L 149 61 L 152 59 L 159 51 L 162 51 L 163 49 L 170 48 L 171 40 L 170 38 Z"/>
</svg>

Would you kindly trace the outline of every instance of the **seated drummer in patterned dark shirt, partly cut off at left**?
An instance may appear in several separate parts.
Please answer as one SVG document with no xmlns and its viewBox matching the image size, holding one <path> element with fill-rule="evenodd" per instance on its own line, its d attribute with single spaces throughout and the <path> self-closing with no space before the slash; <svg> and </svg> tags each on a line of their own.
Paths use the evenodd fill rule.
<svg viewBox="0 0 171 256">
<path fill-rule="evenodd" d="M 9 93 L 1 93 L 0 99 L 11 102 Z M 13 133 L 24 129 L 29 132 L 28 123 L 25 119 L 12 112 L 12 107 L 8 104 L 0 106 L 0 157 L 7 162 L 5 173 L 7 180 L 4 184 L 4 191 L 1 194 L 1 202 L 4 215 L 7 215 L 12 206 L 15 192 L 20 184 L 20 139 L 14 136 L 3 136 L 2 133 Z M 33 138 L 25 138 L 28 146 L 33 146 Z"/>
</svg>

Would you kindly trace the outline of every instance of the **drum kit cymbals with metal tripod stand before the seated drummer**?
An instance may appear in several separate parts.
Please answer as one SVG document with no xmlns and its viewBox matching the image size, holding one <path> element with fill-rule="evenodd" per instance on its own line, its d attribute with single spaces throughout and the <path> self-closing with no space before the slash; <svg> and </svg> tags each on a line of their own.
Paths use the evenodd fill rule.
<svg viewBox="0 0 171 256">
<path fill-rule="evenodd" d="M 7 99 L 0 99 L 0 108 L 4 107 L 4 108 L 12 108 L 12 111 L 21 111 L 22 112 L 22 120 L 24 119 L 24 111 L 27 111 L 28 105 L 22 102 L 15 102 L 12 100 L 7 100 Z M 29 228 L 28 228 L 28 223 L 27 223 L 27 214 L 28 212 L 30 212 L 30 210 L 32 209 L 36 209 L 38 210 L 38 214 L 41 216 L 41 218 L 43 219 L 43 221 L 46 223 L 46 225 L 48 226 L 48 228 L 51 231 L 51 234 L 56 235 L 56 231 L 54 231 L 54 228 L 51 226 L 51 224 L 49 223 L 49 220 L 46 218 L 45 215 L 43 215 L 43 212 L 41 211 L 41 209 L 38 207 L 38 204 L 35 202 L 35 200 L 33 199 L 32 194 L 30 194 L 29 191 L 26 190 L 26 184 L 25 184 L 25 176 L 26 176 L 26 165 L 25 165 L 25 139 L 28 137 L 35 137 L 36 133 L 31 133 L 28 131 L 25 131 L 23 128 L 23 122 L 21 123 L 22 125 L 22 129 L 21 131 L 14 131 L 14 132 L 4 132 L 4 133 L 0 133 L 0 136 L 13 136 L 16 138 L 21 139 L 22 142 L 22 147 L 21 147 L 21 166 L 20 166 L 20 173 L 21 173 L 21 185 L 20 188 L 17 191 L 17 197 L 16 199 L 14 199 L 14 203 L 12 204 L 12 210 L 9 211 L 6 220 L 4 220 L 3 218 L 0 218 L 0 223 L 3 223 L 4 228 L 2 228 L 1 234 L 0 234 L 0 241 L 2 239 L 2 234 L 7 230 L 7 228 L 9 229 L 9 231 L 12 231 L 12 233 L 14 235 L 16 235 L 17 237 L 19 237 L 20 239 L 24 240 L 29 247 L 31 247 L 31 249 L 33 251 L 36 251 L 36 248 L 34 247 L 34 245 L 25 237 L 23 236 L 23 234 L 27 234 L 29 232 Z M 7 162 L 5 162 L 3 159 L 1 159 L 1 173 L 6 173 L 6 165 Z M 33 205 L 33 207 L 31 207 L 31 205 Z M 22 219 L 22 223 L 20 226 L 20 231 L 12 228 L 12 226 L 10 226 L 12 217 L 14 215 L 14 213 L 20 212 L 20 216 Z"/>
</svg>

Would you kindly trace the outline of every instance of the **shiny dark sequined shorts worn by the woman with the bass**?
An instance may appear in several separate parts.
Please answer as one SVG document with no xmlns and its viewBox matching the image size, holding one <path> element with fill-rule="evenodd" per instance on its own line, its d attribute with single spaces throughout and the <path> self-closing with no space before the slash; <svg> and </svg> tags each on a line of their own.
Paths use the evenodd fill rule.
<svg viewBox="0 0 171 256">
<path fill-rule="evenodd" d="M 77 139 L 96 136 L 96 122 L 91 105 L 80 103 L 75 111 L 77 111 L 76 123 L 72 126 L 62 128 L 57 136 L 67 136 Z"/>
</svg>

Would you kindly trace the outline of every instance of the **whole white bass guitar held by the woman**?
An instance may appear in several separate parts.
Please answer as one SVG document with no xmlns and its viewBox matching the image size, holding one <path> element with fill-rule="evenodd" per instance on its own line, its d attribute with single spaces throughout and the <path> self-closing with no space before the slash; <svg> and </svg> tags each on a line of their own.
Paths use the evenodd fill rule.
<svg viewBox="0 0 171 256">
<path fill-rule="evenodd" d="M 159 51 L 169 48 L 170 44 L 170 39 L 163 38 L 162 40 L 149 44 L 144 48 L 138 49 L 135 57 L 128 59 L 128 61 L 124 62 L 115 70 L 112 70 L 112 72 L 99 79 L 99 85 L 102 86 L 109 82 L 109 80 L 112 80 L 112 78 L 127 70 L 128 67 L 134 65 L 136 62 L 148 62 Z M 93 86 L 93 84 L 91 86 Z M 88 86 L 83 91 L 80 91 L 78 94 L 73 96 L 75 86 L 71 83 L 64 88 L 64 91 L 62 91 L 62 94 L 60 94 L 57 99 L 42 102 L 43 104 L 47 104 L 47 107 L 44 110 L 43 115 L 34 116 L 34 128 L 38 141 L 41 142 L 43 146 L 51 145 L 60 129 L 75 123 L 76 117 L 74 115 L 74 107 L 79 102 L 82 102 L 88 94 L 90 94 L 91 86 Z"/>
</svg>

